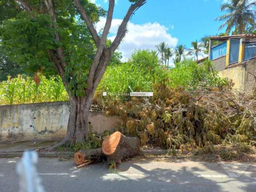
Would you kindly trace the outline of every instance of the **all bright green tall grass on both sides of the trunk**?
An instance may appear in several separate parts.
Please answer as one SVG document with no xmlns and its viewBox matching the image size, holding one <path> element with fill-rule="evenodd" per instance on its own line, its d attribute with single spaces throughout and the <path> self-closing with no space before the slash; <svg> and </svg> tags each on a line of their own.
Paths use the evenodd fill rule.
<svg viewBox="0 0 256 192">
<path fill-rule="evenodd" d="M 40 76 L 36 84 L 31 77 L 8 77 L 0 82 L 0 105 L 53 102 L 68 100 L 68 94 L 60 77 L 50 79 Z M 191 88 L 197 85 L 219 86 L 226 81 L 219 78 L 210 61 L 198 66 L 192 60 L 184 60 L 170 70 L 162 67 L 155 52 L 136 50 L 126 63 L 112 64 L 97 87 L 96 102 L 102 102 L 102 92 L 112 93 L 111 98 L 131 99 L 123 94 L 130 92 L 153 92 L 153 85 L 165 82 L 176 88 Z M 108 100 L 110 97 L 105 97 Z"/>
</svg>

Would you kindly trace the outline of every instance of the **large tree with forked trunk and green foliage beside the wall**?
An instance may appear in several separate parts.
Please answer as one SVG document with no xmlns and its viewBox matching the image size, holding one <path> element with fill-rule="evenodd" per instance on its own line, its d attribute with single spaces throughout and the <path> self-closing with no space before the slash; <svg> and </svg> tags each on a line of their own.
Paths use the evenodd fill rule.
<svg viewBox="0 0 256 192">
<path fill-rule="evenodd" d="M 115 0 L 108 1 L 107 13 L 88 0 L 16 0 L 20 13 L 3 22 L 1 44 L 13 61 L 34 71 L 57 72 L 62 78 L 70 117 L 60 144 L 84 142 L 88 136 L 88 113 L 96 87 L 127 32 L 128 21 L 146 3 L 129 1 L 131 6 L 110 45 L 106 40 Z M 105 15 L 105 26 L 98 34 L 94 24 Z"/>
</svg>

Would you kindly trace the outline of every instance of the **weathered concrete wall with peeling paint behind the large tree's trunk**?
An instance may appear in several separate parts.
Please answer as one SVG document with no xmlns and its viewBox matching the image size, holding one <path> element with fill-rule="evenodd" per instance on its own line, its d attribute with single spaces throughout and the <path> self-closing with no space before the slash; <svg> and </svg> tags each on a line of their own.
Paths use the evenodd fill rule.
<svg viewBox="0 0 256 192">
<path fill-rule="evenodd" d="M 32 140 L 63 138 L 66 134 L 69 102 L 0 106 L 0 140 Z M 104 112 L 91 111 L 92 131 L 111 130 L 119 122 Z"/>
</svg>

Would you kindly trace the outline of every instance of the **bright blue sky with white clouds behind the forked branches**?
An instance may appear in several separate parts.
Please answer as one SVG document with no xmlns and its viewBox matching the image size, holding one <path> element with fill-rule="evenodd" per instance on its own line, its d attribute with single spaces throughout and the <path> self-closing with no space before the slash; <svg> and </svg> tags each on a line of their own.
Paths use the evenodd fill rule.
<svg viewBox="0 0 256 192">
<path fill-rule="evenodd" d="M 223 0 L 148 0 L 130 20 L 120 51 L 128 58 L 135 48 L 152 49 L 153 44 L 160 41 L 166 41 L 170 46 L 184 44 L 190 48 L 192 41 L 223 31 L 218 31 L 221 22 L 214 21 L 224 14 L 220 12 L 222 3 Z M 96 4 L 108 9 L 106 0 L 96 0 Z M 117 1 L 110 39 L 114 38 L 129 6 L 128 0 Z M 103 26 L 102 18 L 97 28 Z"/>
</svg>

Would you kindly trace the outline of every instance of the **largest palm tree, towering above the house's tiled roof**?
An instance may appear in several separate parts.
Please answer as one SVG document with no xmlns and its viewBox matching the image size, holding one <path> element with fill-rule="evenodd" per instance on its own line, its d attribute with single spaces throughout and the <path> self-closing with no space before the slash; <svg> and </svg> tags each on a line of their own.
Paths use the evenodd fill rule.
<svg viewBox="0 0 256 192">
<path fill-rule="evenodd" d="M 255 10 L 252 10 L 254 6 L 256 6 L 255 0 L 230 0 L 230 3 L 223 3 L 220 10 L 228 13 L 215 19 L 225 21 L 219 30 L 227 27 L 226 33 L 230 33 L 235 27 L 235 34 L 242 34 L 248 24 L 254 26 L 256 13 Z"/>
</svg>

